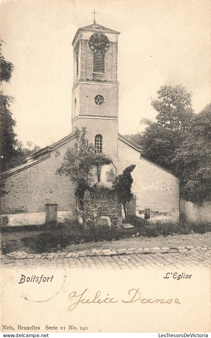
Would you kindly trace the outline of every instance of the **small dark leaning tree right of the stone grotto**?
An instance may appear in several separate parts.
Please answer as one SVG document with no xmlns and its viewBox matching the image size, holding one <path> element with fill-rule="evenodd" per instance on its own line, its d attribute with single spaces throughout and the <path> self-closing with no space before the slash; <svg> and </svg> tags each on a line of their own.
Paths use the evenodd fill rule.
<svg viewBox="0 0 211 338">
<path fill-rule="evenodd" d="M 123 204 L 125 217 L 127 215 L 126 204 L 131 200 L 131 198 L 133 198 L 133 194 L 131 192 L 133 183 L 131 172 L 135 169 L 135 167 L 135 164 L 132 164 L 125 168 L 122 174 L 116 176 L 113 184 L 113 188 L 117 193 L 117 197 Z"/>
</svg>

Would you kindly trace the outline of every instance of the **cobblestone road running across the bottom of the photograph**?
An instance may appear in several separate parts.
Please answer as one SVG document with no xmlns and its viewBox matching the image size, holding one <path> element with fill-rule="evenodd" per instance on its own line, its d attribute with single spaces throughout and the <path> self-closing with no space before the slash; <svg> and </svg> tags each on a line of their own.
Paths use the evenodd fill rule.
<svg viewBox="0 0 211 338">
<path fill-rule="evenodd" d="M 201 267 L 211 268 L 211 250 L 189 251 L 186 253 L 171 252 L 169 254 L 131 254 L 115 256 L 93 256 L 65 258 L 60 255 L 56 258 L 44 259 L 9 259 L 4 258 L 1 262 L 4 267 L 23 269 L 27 267 L 66 267 L 66 268 L 91 268 L 91 269 L 149 269 L 149 268 L 181 268 Z"/>
</svg>

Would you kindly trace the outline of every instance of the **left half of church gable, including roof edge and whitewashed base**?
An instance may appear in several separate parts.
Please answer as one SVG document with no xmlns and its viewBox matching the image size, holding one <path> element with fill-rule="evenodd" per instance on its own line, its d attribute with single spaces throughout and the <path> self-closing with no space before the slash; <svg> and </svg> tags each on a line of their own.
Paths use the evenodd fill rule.
<svg viewBox="0 0 211 338">
<path fill-rule="evenodd" d="M 73 144 L 74 137 L 69 137 L 65 143 L 59 141 L 52 145 L 43 158 L 6 173 L 5 190 L 8 194 L 2 198 L 1 213 L 13 215 L 9 217 L 8 225 L 45 223 L 46 204 L 51 203 L 57 204 L 61 220 L 65 215 L 75 217 L 75 186 L 69 177 L 56 174 L 67 148 Z M 40 154 L 42 150 L 40 149 Z"/>
</svg>

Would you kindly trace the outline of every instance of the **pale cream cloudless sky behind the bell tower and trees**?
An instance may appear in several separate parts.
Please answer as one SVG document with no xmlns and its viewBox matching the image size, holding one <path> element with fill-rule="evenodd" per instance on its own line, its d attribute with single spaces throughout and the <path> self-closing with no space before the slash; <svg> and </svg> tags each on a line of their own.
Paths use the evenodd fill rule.
<svg viewBox="0 0 211 338">
<path fill-rule="evenodd" d="M 14 65 L 3 91 L 13 97 L 15 132 L 26 146 L 45 147 L 71 132 L 72 40 L 96 22 L 118 38 L 119 133 L 143 130 L 161 86 L 182 85 L 196 113 L 211 97 L 211 2 L 2 1 L 3 55 Z"/>
</svg>

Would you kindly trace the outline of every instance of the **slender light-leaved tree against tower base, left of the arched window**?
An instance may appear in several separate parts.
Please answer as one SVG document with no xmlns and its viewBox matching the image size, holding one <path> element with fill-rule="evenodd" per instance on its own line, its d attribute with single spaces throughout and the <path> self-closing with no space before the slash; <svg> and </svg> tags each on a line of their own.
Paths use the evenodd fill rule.
<svg viewBox="0 0 211 338">
<path fill-rule="evenodd" d="M 69 147 L 64 156 L 64 162 L 56 171 L 57 174 L 65 174 L 76 183 L 75 194 L 79 200 L 84 197 L 84 192 L 89 189 L 93 181 L 92 169 L 98 167 L 98 176 L 103 163 L 103 155 L 97 154 L 92 143 L 86 138 L 86 128 L 75 129 L 76 142 L 73 147 Z M 99 177 L 98 177 L 99 180 Z"/>
</svg>

